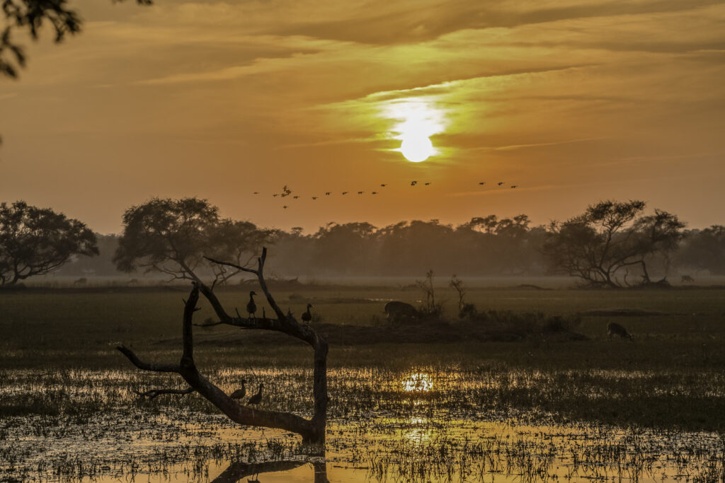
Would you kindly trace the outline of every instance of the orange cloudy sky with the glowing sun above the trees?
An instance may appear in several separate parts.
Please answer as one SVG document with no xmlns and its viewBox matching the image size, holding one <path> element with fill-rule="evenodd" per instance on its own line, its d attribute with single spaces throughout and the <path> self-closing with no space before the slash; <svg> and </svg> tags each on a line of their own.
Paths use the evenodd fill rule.
<svg viewBox="0 0 725 483">
<path fill-rule="evenodd" d="M 18 35 L 0 78 L 0 201 L 101 233 L 187 196 L 307 232 L 631 198 L 725 223 L 721 0 L 70 5 L 83 32 Z"/>
</svg>

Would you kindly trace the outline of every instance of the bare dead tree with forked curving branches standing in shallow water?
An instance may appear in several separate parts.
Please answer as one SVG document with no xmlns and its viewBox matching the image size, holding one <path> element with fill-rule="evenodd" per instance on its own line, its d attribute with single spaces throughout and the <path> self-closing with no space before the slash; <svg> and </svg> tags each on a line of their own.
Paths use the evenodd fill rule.
<svg viewBox="0 0 725 483">
<path fill-rule="evenodd" d="M 225 261 L 212 260 L 215 264 L 233 266 L 244 272 L 257 275 L 260 282 L 262 292 L 267 297 L 267 301 L 273 308 L 276 318 L 257 317 L 248 319 L 239 316 L 230 316 L 224 310 L 218 298 L 213 292 L 213 286 L 207 287 L 200 282 L 194 282 L 189 293 L 188 300 L 184 303 L 183 311 L 183 354 L 179 364 L 149 364 L 141 361 L 133 351 L 125 348 L 123 345 L 117 347 L 124 356 L 126 356 L 136 367 L 144 371 L 156 372 L 175 372 L 188 383 L 191 390 L 199 392 L 204 398 L 210 401 L 220 411 L 225 413 L 229 419 L 239 424 L 257 427 L 269 427 L 285 429 L 286 431 L 295 432 L 302 436 L 302 440 L 307 443 L 324 445 L 325 429 L 327 424 L 327 340 L 321 337 L 315 331 L 307 326 L 302 325 L 294 319 L 291 314 L 285 314 L 277 305 L 272 294 L 270 293 L 264 277 L 265 259 L 267 258 L 267 249 L 262 250 L 262 256 L 257 259 L 257 269 L 248 269 L 242 266 L 231 264 Z M 237 403 L 223 390 L 215 386 L 206 377 L 204 377 L 194 364 L 194 341 L 193 341 L 193 316 L 197 310 L 196 302 L 199 301 L 199 292 L 210 302 L 217 314 L 219 324 L 228 324 L 242 329 L 262 329 L 276 330 L 283 332 L 291 337 L 296 337 L 309 344 L 315 351 L 314 356 L 314 376 L 312 391 L 315 398 L 315 411 L 312 419 L 305 419 L 292 413 L 283 413 L 278 411 L 263 411 L 258 408 L 249 408 Z"/>
</svg>

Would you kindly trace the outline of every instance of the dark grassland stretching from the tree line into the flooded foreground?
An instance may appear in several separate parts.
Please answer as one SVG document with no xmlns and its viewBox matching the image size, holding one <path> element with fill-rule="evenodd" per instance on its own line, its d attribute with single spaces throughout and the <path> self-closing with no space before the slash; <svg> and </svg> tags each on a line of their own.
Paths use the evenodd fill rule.
<svg viewBox="0 0 725 483">
<path fill-rule="evenodd" d="M 243 307 L 247 301 L 240 288 L 219 290 L 228 307 Z M 421 479 L 432 478 L 433 467 L 406 466 L 405 461 L 432 461 L 426 452 L 436 451 L 448 452 L 439 458 L 439 476 L 454 471 L 454 466 L 462 474 L 460 465 L 466 462 L 479 469 L 483 464 L 484 472 L 494 471 L 495 465 L 486 464 L 493 465 L 496 458 L 486 460 L 484 455 L 490 456 L 495 448 L 500 456 L 508 455 L 505 464 L 510 463 L 510 471 L 529 472 L 532 479 L 546 461 L 550 476 L 555 474 L 552 465 L 565 460 L 567 471 L 575 461 L 586 466 L 597 458 L 608 471 L 622 464 L 632 471 L 645 471 L 647 461 L 670 464 L 655 455 L 682 460 L 679 469 L 674 473 L 668 469 L 666 474 L 688 471 L 692 481 L 713 481 L 708 478 L 723 474 L 725 290 L 721 288 L 471 288 L 466 301 L 480 311 L 498 314 L 475 322 L 484 327 L 457 319 L 455 293 L 444 287 L 436 291 L 436 298 L 444 300 L 442 319 L 401 325 L 384 319 L 384 301 L 414 303 L 420 298 L 416 290 L 295 287 L 275 290 L 275 295 L 294 314 L 300 314 L 308 301 L 314 305 L 318 317 L 313 324 L 331 340 L 331 449 L 343 455 L 340 461 L 365 466 L 377 479 L 385 475 L 406 479 L 421 471 Z M 129 458 L 149 467 L 159 461 L 186 461 L 191 447 L 178 441 L 193 439 L 197 432 L 209 432 L 212 427 L 218 435 L 239 441 L 239 434 L 230 436 L 230 426 L 196 395 L 139 400 L 136 390 L 182 386 L 174 377 L 136 371 L 113 349 L 123 342 L 147 358 L 178 358 L 185 297 L 183 287 L 0 292 L 0 466 L 8 471 L 12 459 L 15 471 L 24 468 L 22 474 L 36 478 L 38 448 L 45 448 L 46 454 L 56 455 L 52 460 L 56 470 L 67 464 L 76 471 L 85 464 L 94 471 L 107 466 L 113 469 L 111 473 L 129 474 L 123 463 Z M 539 320 L 563 316 L 565 333 L 584 337 L 561 337 L 560 332 L 547 332 L 536 322 L 527 322 L 525 330 L 518 327 L 517 337 L 506 342 L 489 337 L 507 324 L 524 324 L 529 320 L 526 314 L 537 312 L 544 314 Z M 213 320 L 208 306 L 202 307 L 196 319 Z M 634 342 L 610 339 L 605 327 L 613 321 L 627 327 Z M 270 388 L 266 407 L 309 416 L 306 388 L 311 385 L 311 353 L 306 347 L 281 335 L 257 335 L 224 326 L 196 328 L 195 337 L 197 363 L 220 387 L 231 391 L 241 377 L 265 382 Z M 426 374 L 432 390 L 404 390 L 402 382 L 413 374 Z M 175 423 L 170 422 L 174 419 Z M 126 422 L 123 428 L 109 427 L 109 420 Z M 507 430 L 485 426 L 502 423 L 546 432 L 548 448 L 556 446 L 558 453 L 548 459 L 526 460 L 525 453 L 542 455 L 544 443 L 534 448 L 531 440 L 521 436 L 523 432 L 508 438 L 503 436 Z M 471 424 L 474 429 L 461 429 Z M 579 432 L 562 436 L 561 428 L 568 428 L 566 434 Z M 135 431 L 146 434 L 147 440 L 166 441 L 158 448 L 166 448 L 163 451 L 169 454 L 162 458 L 161 453 L 154 457 L 146 452 L 143 457 L 126 455 L 114 460 L 98 453 L 91 460 L 81 458 L 76 466 L 67 462 L 67 453 L 66 459 L 57 455 L 57 445 L 83 437 L 96 445 L 108 438 L 109 448 L 117 448 L 117 437 L 133 440 Z M 401 436 L 409 432 L 427 436 L 411 446 L 410 437 Z M 471 440 L 464 448 L 463 441 L 478 432 L 486 437 Z M 282 446 L 273 445 L 270 450 L 268 437 L 249 434 L 253 437 L 245 440 L 244 450 L 206 445 L 197 448 L 204 455 L 199 458 L 299 453 L 294 438 L 278 435 Z M 599 438 L 594 449 L 587 446 L 590 436 Z M 28 447 L 9 444 L 17 437 L 25 437 Z M 612 445 L 620 445 L 620 453 L 612 453 Z M 78 448 L 82 450 L 83 445 Z M 517 454 L 523 459 L 515 460 Z M 499 469 L 495 471 L 505 472 L 502 458 L 496 459 Z M 68 476 L 87 476 L 91 470 L 67 471 Z"/>
</svg>

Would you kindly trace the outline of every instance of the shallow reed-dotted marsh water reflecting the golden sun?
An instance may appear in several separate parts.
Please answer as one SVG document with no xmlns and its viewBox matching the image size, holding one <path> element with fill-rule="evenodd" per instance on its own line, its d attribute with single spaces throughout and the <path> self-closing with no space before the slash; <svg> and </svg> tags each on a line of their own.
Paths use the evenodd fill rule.
<svg viewBox="0 0 725 483">
<path fill-rule="evenodd" d="M 173 378 L 130 369 L 3 375 L 0 481 L 710 482 L 725 458 L 714 432 L 554 423 L 494 402 L 512 387 L 539 390 L 535 372 L 333 369 L 324 458 L 294 434 L 231 424 L 196 395 L 136 395 Z M 265 382 L 263 407 L 305 414 L 311 404 L 306 369 L 210 375 L 225 390 L 242 377 Z"/>
</svg>

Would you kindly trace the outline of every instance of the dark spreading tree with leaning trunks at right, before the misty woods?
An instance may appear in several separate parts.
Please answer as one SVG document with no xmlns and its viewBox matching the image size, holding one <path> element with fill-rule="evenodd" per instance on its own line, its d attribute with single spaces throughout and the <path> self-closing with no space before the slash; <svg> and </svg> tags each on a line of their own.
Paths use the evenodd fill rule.
<svg viewBox="0 0 725 483">
<path fill-rule="evenodd" d="M 643 216 L 644 210 L 645 202 L 638 200 L 590 205 L 579 217 L 550 224 L 544 253 L 555 271 L 579 277 L 587 285 L 629 285 L 630 270 L 639 274 L 640 285 L 650 284 L 647 259 L 674 251 L 684 223 L 659 209 Z"/>
</svg>

